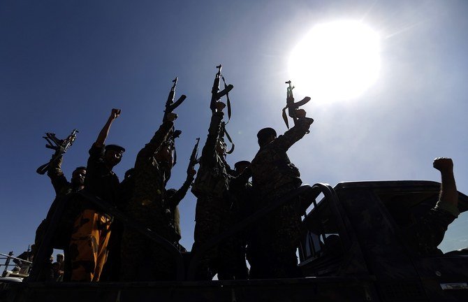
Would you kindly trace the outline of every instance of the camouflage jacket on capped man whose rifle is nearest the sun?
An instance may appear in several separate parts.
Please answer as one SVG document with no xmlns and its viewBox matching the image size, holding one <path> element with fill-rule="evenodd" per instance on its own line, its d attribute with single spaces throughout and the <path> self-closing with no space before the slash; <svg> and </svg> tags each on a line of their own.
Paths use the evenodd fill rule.
<svg viewBox="0 0 468 302">
<path fill-rule="evenodd" d="M 286 151 L 305 135 L 311 124 L 312 119 L 299 119 L 284 135 L 278 136 L 258 150 L 250 167 L 252 184 L 260 198 L 286 184 L 292 183 L 297 187 L 302 184 L 299 169 L 291 163 Z"/>
</svg>

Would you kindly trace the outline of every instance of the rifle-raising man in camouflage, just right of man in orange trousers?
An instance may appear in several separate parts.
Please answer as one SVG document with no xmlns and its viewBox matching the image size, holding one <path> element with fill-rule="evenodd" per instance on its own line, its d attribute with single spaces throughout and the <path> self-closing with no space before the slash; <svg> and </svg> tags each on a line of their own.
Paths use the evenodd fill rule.
<svg viewBox="0 0 468 302">
<path fill-rule="evenodd" d="M 170 134 L 174 127 L 175 113 L 166 113 L 163 124 L 136 157 L 133 170 L 135 188 L 128 205 L 128 213 L 159 236 L 174 242 L 164 213 L 164 187 L 173 167 L 173 144 Z M 171 280 L 175 278 L 175 266 L 167 252 L 157 243 L 125 228 L 122 236 L 122 281 Z"/>
</svg>

